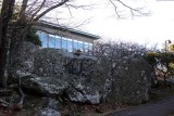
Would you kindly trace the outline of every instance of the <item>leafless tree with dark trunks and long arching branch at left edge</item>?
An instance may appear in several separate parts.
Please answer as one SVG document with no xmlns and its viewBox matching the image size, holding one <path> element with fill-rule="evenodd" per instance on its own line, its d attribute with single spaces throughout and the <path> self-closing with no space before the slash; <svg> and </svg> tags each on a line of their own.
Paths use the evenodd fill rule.
<svg viewBox="0 0 174 116">
<path fill-rule="evenodd" d="M 4 81 L 4 72 L 8 70 L 5 68 L 8 64 L 8 54 L 10 52 L 9 47 L 11 47 L 11 50 L 17 48 L 24 40 L 32 25 L 36 24 L 38 20 L 50 11 L 63 7 L 67 2 L 70 2 L 70 0 L 23 0 L 18 16 L 12 22 L 15 0 L 3 0 L 0 18 L 0 77 L 2 87 L 5 87 L 5 82 L 2 81 Z M 9 37 L 7 37 L 7 35 L 9 35 Z"/>
</svg>

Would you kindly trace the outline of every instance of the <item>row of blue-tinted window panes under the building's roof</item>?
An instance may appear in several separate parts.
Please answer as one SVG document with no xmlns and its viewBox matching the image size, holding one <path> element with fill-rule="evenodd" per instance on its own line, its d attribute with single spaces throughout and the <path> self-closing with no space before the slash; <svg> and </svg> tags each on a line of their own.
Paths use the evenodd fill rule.
<svg viewBox="0 0 174 116">
<path fill-rule="evenodd" d="M 50 47 L 55 49 L 67 50 L 69 52 L 73 52 L 73 50 L 80 50 L 82 52 L 86 52 L 87 54 L 92 52 L 92 43 L 73 40 L 55 35 L 48 35 L 42 31 L 37 31 L 37 35 L 41 40 L 42 48 Z"/>
</svg>

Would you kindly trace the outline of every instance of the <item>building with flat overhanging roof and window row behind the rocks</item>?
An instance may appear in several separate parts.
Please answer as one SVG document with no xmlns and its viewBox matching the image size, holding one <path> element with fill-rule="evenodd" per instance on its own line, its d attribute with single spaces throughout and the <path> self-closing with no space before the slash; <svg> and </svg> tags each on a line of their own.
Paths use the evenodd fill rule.
<svg viewBox="0 0 174 116">
<path fill-rule="evenodd" d="M 80 50 L 89 53 L 94 49 L 94 41 L 100 39 L 99 36 L 45 21 L 40 21 L 34 28 L 37 30 L 42 48 L 55 48 L 69 52 Z"/>
</svg>

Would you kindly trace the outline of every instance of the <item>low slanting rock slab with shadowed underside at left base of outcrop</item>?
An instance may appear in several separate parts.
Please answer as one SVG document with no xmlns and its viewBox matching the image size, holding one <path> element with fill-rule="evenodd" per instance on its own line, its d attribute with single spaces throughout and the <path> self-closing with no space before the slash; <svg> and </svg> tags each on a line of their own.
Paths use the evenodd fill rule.
<svg viewBox="0 0 174 116">
<path fill-rule="evenodd" d="M 53 98 L 60 96 L 69 85 L 63 79 L 54 77 L 38 77 L 36 75 L 22 77 L 21 81 L 22 87 L 26 91 Z"/>
</svg>

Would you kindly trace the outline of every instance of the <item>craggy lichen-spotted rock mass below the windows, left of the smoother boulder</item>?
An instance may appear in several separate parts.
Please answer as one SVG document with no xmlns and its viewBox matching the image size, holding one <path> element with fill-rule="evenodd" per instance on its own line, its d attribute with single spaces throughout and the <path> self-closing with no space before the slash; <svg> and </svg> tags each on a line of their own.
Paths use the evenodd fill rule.
<svg viewBox="0 0 174 116">
<path fill-rule="evenodd" d="M 30 47 L 30 46 L 26 46 Z M 28 49 L 32 52 L 32 49 Z M 96 67 L 97 59 L 92 56 L 76 56 L 73 53 L 57 49 L 38 49 L 33 55 L 25 51 L 26 61 L 33 60 L 33 65 L 28 68 L 16 64 L 13 73 L 13 79 L 20 79 L 23 89 L 26 92 L 42 94 L 46 96 L 63 96 L 64 93 L 72 102 L 83 102 L 98 104 L 101 95 L 101 88 L 92 82 L 92 74 Z M 18 56 L 23 60 L 23 55 Z M 82 88 L 80 88 L 82 87 Z"/>
</svg>

